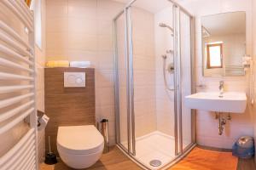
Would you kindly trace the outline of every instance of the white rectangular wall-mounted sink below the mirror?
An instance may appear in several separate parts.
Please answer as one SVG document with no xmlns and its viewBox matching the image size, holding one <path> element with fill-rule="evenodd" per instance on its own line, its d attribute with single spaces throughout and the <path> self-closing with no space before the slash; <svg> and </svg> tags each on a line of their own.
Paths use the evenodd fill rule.
<svg viewBox="0 0 256 170">
<path fill-rule="evenodd" d="M 185 97 L 185 105 L 201 111 L 243 113 L 247 107 L 247 95 L 238 92 L 226 92 L 218 97 L 218 92 L 192 94 Z"/>
</svg>

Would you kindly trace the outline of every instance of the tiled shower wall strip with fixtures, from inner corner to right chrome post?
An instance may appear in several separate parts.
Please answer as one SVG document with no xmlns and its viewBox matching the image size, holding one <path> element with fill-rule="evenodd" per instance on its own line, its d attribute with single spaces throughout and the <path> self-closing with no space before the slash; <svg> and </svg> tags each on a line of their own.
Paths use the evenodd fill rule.
<svg viewBox="0 0 256 170">
<path fill-rule="evenodd" d="M 172 6 L 165 8 L 154 15 L 154 51 L 155 51 L 155 105 L 157 130 L 174 136 L 174 93 L 167 91 L 163 77 L 162 55 L 166 50 L 173 49 L 172 31 L 160 27 L 165 23 L 172 27 Z M 167 54 L 166 68 L 173 63 L 172 54 Z M 173 74 L 166 72 L 168 85 L 173 88 Z"/>
</svg>

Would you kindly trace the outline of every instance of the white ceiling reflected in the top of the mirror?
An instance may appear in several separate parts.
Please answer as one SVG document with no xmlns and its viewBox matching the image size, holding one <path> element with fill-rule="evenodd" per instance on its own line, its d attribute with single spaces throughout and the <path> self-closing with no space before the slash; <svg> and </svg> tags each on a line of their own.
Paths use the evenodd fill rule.
<svg viewBox="0 0 256 170">
<path fill-rule="evenodd" d="M 211 36 L 246 33 L 245 12 L 214 14 L 201 18 L 204 26 Z"/>
</svg>

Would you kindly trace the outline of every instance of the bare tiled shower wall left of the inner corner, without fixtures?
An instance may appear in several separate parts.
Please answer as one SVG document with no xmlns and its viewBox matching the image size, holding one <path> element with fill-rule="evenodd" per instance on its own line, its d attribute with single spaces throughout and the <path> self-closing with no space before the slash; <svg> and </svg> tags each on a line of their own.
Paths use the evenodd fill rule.
<svg viewBox="0 0 256 170">
<path fill-rule="evenodd" d="M 134 75 L 135 135 L 156 130 L 154 14 L 131 9 Z"/>
</svg>

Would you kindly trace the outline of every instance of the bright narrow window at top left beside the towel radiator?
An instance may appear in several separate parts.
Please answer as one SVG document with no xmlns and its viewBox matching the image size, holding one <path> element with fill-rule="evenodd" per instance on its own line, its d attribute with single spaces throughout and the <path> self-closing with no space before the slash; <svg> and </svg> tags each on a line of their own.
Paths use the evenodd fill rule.
<svg viewBox="0 0 256 170">
<path fill-rule="evenodd" d="M 30 8 L 34 11 L 35 42 L 42 49 L 42 8 L 41 0 L 32 0 Z"/>
</svg>

